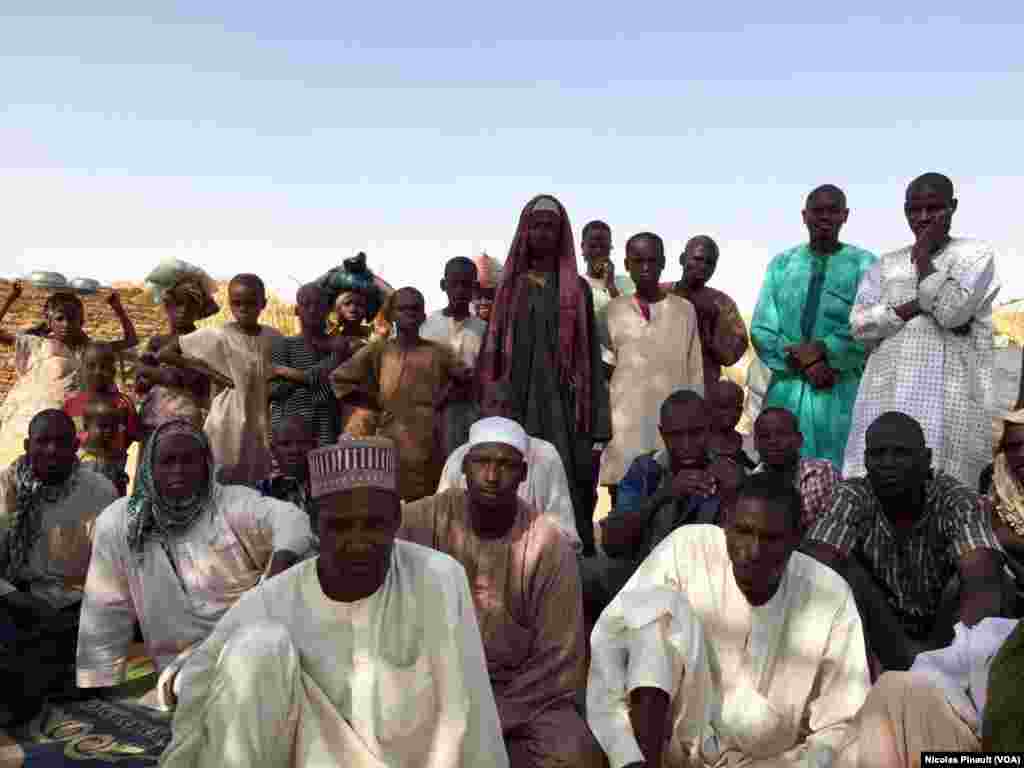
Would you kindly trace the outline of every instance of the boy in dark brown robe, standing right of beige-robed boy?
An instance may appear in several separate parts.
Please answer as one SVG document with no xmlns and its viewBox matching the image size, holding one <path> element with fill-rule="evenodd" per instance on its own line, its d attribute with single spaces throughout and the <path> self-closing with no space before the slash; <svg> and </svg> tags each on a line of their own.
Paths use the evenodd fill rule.
<svg viewBox="0 0 1024 768">
<path fill-rule="evenodd" d="M 707 234 L 691 238 L 679 257 L 683 279 L 673 293 L 692 302 L 697 310 L 700 349 L 705 358 L 705 386 L 718 381 L 722 369 L 734 366 L 750 343 L 746 324 L 736 302 L 721 291 L 708 287 L 718 265 L 718 245 Z"/>
</svg>

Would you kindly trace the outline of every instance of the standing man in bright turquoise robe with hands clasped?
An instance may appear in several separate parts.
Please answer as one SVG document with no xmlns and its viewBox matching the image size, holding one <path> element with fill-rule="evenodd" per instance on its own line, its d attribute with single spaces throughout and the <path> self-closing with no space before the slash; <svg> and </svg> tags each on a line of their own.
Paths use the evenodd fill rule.
<svg viewBox="0 0 1024 768">
<path fill-rule="evenodd" d="M 766 408 L 800 422 L 802 456 L 841 466 L 864 347 L 850 335 L 850 307 L 873 254 L 841 243 L 850 215 L 846 195 L 824 184 L 807 196 L 805 245 L 768 265 L 751 324 L 754 348 L 772 372 Z"/>
</svg>

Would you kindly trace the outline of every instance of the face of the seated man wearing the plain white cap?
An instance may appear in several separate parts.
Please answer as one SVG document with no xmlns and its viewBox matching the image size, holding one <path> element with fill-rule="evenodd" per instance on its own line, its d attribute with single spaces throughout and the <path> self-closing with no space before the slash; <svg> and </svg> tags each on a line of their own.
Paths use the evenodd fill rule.
<svg viewBox="0 0 1024 768">
<path fill-rule="evenodd" d="M 473 525 L 482 535 L 500 536 L 515 520 L 516 493 L 526 477 L 522 454 L 511 445 L 474 445 L 463 461 Z"/>
</svg>

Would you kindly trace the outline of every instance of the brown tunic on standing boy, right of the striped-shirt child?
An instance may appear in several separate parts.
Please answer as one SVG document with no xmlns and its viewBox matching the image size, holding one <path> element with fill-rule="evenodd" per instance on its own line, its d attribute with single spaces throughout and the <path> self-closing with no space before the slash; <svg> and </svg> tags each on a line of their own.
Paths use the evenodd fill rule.
<svg viewBox="0 0 1024 768">
<path fill-rule="evenodd" d="M 335 396 L 375 398 L 381 409 L 377 434 L 398 446 L 398 492 L 404 501 L 434 493 L 444 457 L 436 407 L 458 365 L 447 347 L 421 341 L 403 349 L 397 341 L 364 347 L 331 374 Z"/>
</svg>

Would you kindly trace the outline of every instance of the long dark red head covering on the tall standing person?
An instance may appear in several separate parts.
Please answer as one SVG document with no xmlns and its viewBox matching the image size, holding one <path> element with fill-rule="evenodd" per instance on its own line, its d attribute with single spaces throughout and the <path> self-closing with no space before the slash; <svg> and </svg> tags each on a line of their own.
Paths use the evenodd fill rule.
<svg viewBox="0 0 1024 768">
<path fill-rule="evenodd" d="M 577 269 L 572 226 L 561 203 L 550 195 L 534 198 L 519 215 L 509 257 L 495 295 L 487 335 L 477 362 L 481 388 L 507 378 L 512 369 L 513 328 L 524 298 L 523 281 L 529 270 L 529 217 L 538 203 L 548 210 L 555 209 L 561 219 L 561 241 L 558 246 L 558 359 L 563 385 L 575 388 L 577 430 L 591 431 L 591 339 L 590 317 L 584 301 L 580 272 Z M 501 354 L 498 353 L 499 347 Z"/>
</svg>

